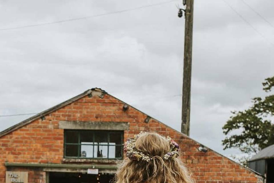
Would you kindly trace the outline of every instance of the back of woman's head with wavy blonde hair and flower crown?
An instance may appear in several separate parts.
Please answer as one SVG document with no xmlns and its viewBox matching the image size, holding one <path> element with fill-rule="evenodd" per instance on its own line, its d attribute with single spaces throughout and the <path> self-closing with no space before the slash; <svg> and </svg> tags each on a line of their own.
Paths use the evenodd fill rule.
<svg viewBox="0 0 274 183">
<path fill-rule="evenodd" d="M 179 146 L 169 137 L 141 132 L 129 139 L 128 158 L 118 167 L 116 183 L 193 183 L 179 156 Z"/>
</svg>

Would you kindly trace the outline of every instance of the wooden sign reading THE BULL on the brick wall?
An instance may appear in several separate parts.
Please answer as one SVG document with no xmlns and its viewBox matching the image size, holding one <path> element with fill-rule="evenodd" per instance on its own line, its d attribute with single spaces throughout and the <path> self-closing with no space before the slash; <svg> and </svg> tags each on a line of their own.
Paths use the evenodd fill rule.
<svg viewBox="0 0 274 183">
<path fill-rule="evenodd" d="M 28 172 L 6 171 L 6 183 L 28 183 Z"/>
</svg>

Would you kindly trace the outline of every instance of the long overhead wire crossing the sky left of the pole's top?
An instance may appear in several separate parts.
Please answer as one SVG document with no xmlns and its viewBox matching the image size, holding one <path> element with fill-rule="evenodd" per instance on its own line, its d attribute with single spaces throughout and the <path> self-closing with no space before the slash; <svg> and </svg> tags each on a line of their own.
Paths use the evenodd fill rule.
<svg viewBox="0 0 274 183">
<path fill-rule="evenodd" d="M 19 27 L 4 28 L 4 29 L 0 29 L 0 31 L 7 31 L 7 30 L 13 30 L 13 29 L 23 29 L 23 28 L 27 28 L 27 27 L 37 27 L 37 26 L 43 26 L 43 25 L 63 23 L 63 22 L 68 22 L 68 21 L 76 21 L 76 20 L 82 20 L 82 19 L 88 19 L 88 18 L 94 18 L 94 17 L 101 17 L 101 16 L 115 14 L 115 13 L 123 13 L 123 12 L 132 11 L 132 10 L 136 10 L 136 9 L 142 9 L 142 8 L 147 8 L 147 7 L 152 7 L 152 6 L 163 5 L 163 4 L 173 2 L 173 1 L 176 1 L 176 0 L 170 0 L 170 1 L 165 1 L 165 2 L 161 2 L 161 3 L 155 3 L 155 4 L 151 4 L 151 5 L 144 5 L 144 6 L 139 6 L 139 7 L 135 7 L 135 8 L 125 9 L 125 10 L 120 10 L 120 11 L 112 11 L 112 12 L 109 12 L 109 13 L 102 13 L 102 14 L 91 15 L 91 16 L 86 16 L 86 17 L 79 17 L 79 18 L 73 18 L 73 19 L 53 21 L 53 22 L 48 22 L 48 23 L 37 23 L 37 24 L 24 25 L 24 26 L 19 26 Z"/>
</svg>

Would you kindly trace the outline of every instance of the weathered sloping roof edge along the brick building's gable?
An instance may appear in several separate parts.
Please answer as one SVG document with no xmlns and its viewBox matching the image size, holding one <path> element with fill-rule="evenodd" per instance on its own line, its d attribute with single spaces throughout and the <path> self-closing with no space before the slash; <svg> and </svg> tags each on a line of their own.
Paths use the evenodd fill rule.
<svg viewBox="0 0 274 183">
<path fill-rule="evenodd" d="M 86 90 L 85 92 L 83 92 L 82 94 L 79 94 L 79 95 L 77 95 L 77 96 L 75 96 L 75 97 L 73 97 L 73 98 L 70 98 L 70 99 L 66 100 L 65 102 L 62 102 L 62 103 L 60 103 L 60 104 L 57 104 L 56 106 L 53 106 L 53 107 L 51 107 L 51 108 L 49 108 L 49 109 L 47 109 L 47 110 L 45 110 L 45 111 L 43 111 L 43 112 L 41 112 L 41 113 L 38 113 L 38 114 L 36 114 L 35 116 L 32 116 L 32 117 L 30 117 L 30 118 L 28 118 L 28 119 L 26 119 L 26 120 L 24 120 L 24 121 L 22 121 L 22 122 L 20 122 L 20 123 L 18 123 L 18 124 L 16 124 L 16 125 L 14 125 L 14 126 L 11 126 L 10 128 L 7 128 L 6 130 L 3 130 L 2 132 L 0 132 L 0 138 L 1 138 L 2 136 L 4 136 L 4 135 L 10 133 L 10 132 L 13 132 L 13 131 L 15 131 L 15 130 L 17 130 L 17 129 L 19 129 L 19 128 L 25 126 L 25 125 L 27 125 L 27 124 L 30 124 L 30 123 L 33 122 L 34 120 L 37 120 L 37 119 L 39 119 L 39 118 L 42 118 L 43 116 L 46 116 L 46 115 L 48 115 L 48 114 L 50 114 L 50 113 L 52 113 L 52 112 L 54 112 L 54 111 L 56 111 L 56 110 L 58 110 L 58 109 L 60 109 L 60 108 L 63 108 L 63 107 L 65 107 L 65 106 L 67 106 L 67 105 L 69 105 L 69 104 L 71 104 L 71 103 L 73 103 L 73 102 L 79 100 L 80 98 L 83 98 L 83 97 L 85 97 L 85 96 L 90 96 L 90 97 L 91 97 L 93 93 L 97 93 L 97 95 L 98 95 L 98 93 L 100 93 L 100 94 L 98 95 L 100 98 L 104 98 L 104 95 L 105 95 L 105 94 L 108 94 L 106 91 L 104 91 L 104 90 L 102 90 L 102 89 L 100 89 L 100 88 L 88 89 L 88 90 Z M 117 100 L 119 100 L 118 98 L 116 98 L 116 97 L 114 97 L 114 96 L 112 96 L 112 95 L 110 95 L 110 94 L 108 94 L 108 95 L 111 96 L 111 97 L 113 97 L 113 98 L 115 98 L 115 99 L 117 99 Z M 131 108 L 137 110 L 138 112 L 141 112 L 141 113 L 145 114 L 145 115 L 148 116 L 149 118 L 152 118 L 152 117 L 150 117 L 149 115 L 147 115 L 146 113 L 144 113 L 144 112 L 142 112 L 142 111 L 140 111 L 140 110 L 134 108 L 133 106 L 131 106 L 131 105 L 129 105 L 129 104 L 127 104 L 127 103 L 125 103 L 125 102 L 123 102 L 123 101 L 121 101 L 121 100 L 119 100 L 119 101 L 122 102 L 123 104 L 126 104 L 127 106 L 130 106 Z M 152 119 L 156 120 L 155 118 L 152 118 Z M 182 132 L 179 132 L 178 130 L 175 130 L 174 128 L 172 128 L 172 127 L 170 127 L 170 126 L 168 126 L 168 125 L 166 125 L 166 124 L 160 122 L 159 120 L 156 120 L 156 121 L 159 122 L 159 123 L 161 123 L 161 124 L 163 124 L 163 125 L 165 125 L 166 127 L 170 128 L 170 129 L 176 131 L 176 132 L 179 133 L 180 135 L 182 135 L 182 136 L 184 136 L 184 137 L 186 137 L 186 138 L 189 138 L 189 139 L 193 140 L 193 141 L 196 142 L 197 144 L 200 144 L 200 145 L 204 146 L 203 144 L 201 144 L 201 143 L 197 142 L 196 140 L 190 138 L 190 137 L 187 136 L 186 134 L 183 134 Z M 212 152 L 214 152 L 214 153 L 216 153 L 216 154 L 219 154 L 219 155 L 222 156 L 222 157 L 227 158 L 226 156 L 224 156 L 224 155 L 222 155 L 222 154 L 220 154 L 220 153 L 218 153 L 218 152 L 216 152 L 216 151 L 214 151 L 214 150 L 208 148 L 207 146 L 204 146 L 204 147 L 206 147 L 207 149 L 211 150 Z M 231 160 L 231 159 L 229 159 L 229 160 Z M 238 162 L 235 162 L 234 160 L 231 160 L 231 161 L 234 162 L 234 163 L 236 163 L 236 164 L 238 164 L 239 166 L 241 166 L 241 167 L 243 167 L 243 168 L 246 168 L 246 169 L 248 169 L 249 171 L 251 171 L 251 172 L 253 172 L 253 173 L 255 173 L 255 174 L 257 174 L 257 175 L 263 177 L 263 175 L 261 175 L 261 174 L 259 174 L 258 172 L 252 170 L 251 168 L 246 167 L 246 166 L 243 166 L 242 164 L 239 164 Z"/>
</svg>

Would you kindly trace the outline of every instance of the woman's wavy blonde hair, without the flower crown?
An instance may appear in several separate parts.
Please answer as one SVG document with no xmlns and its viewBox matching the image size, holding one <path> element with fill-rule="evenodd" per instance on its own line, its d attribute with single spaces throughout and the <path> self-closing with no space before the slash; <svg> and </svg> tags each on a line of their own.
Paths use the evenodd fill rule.
<svg viewBox="0 0 274 183">
<path fill-rule="evenodd" d="M 150 161 L 125 158 L 118 165 L 116 183 L 194 183 L 186 167 L 178 158 L 164 160 L 170 144 L 155 132 L 142 133 L 135 142 L 136 150 L 152 156 Z"/>
</svg>

